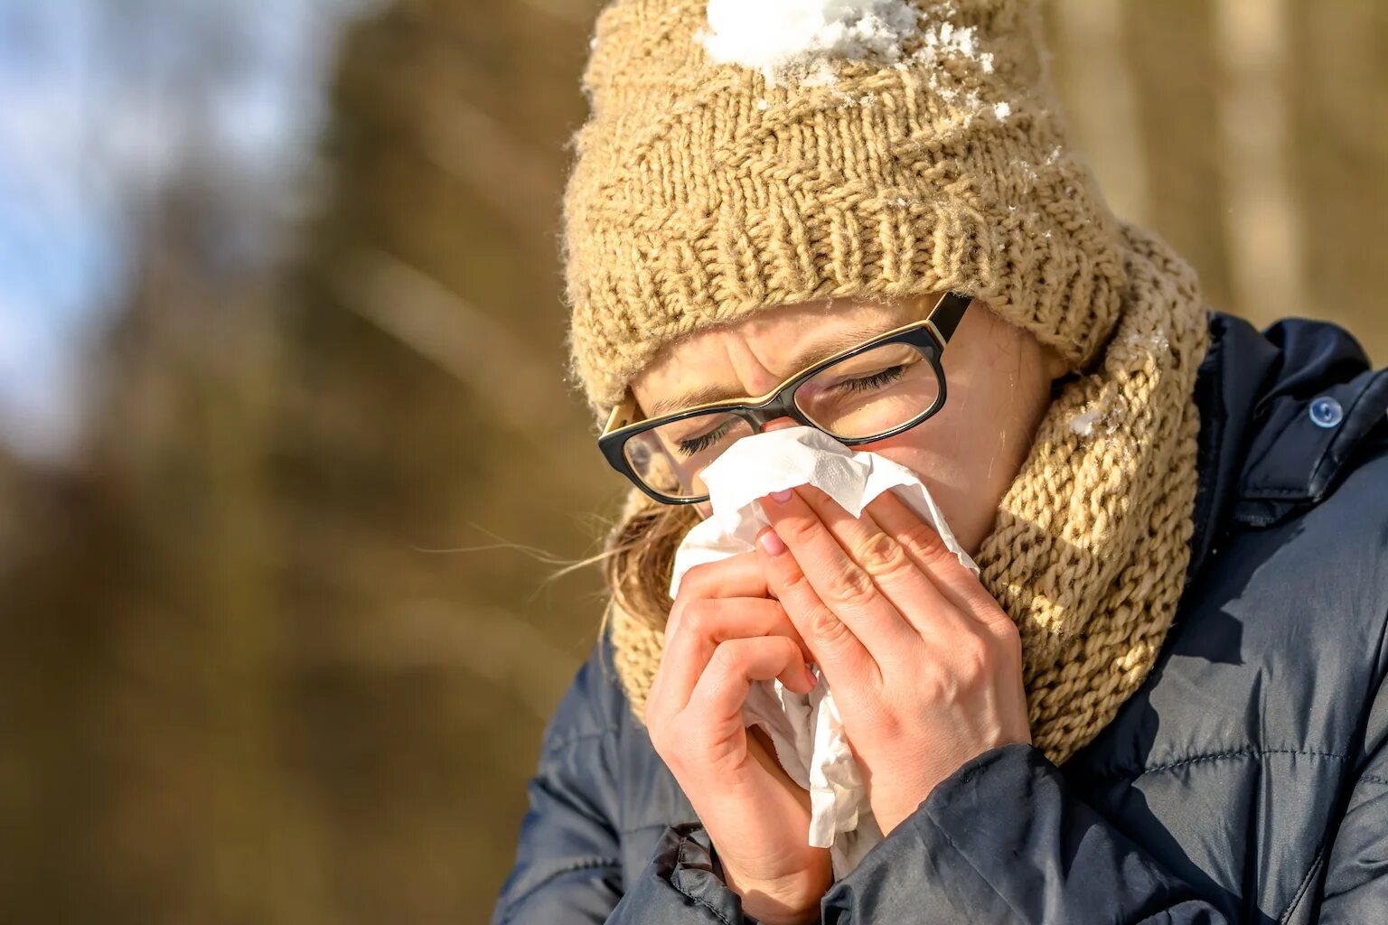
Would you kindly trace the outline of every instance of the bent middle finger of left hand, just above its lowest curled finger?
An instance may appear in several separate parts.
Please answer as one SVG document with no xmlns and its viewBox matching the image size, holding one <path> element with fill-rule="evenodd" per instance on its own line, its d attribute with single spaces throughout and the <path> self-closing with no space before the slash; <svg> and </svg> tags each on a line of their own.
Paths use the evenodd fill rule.
<svg viewBox="0 0 1388 925">
<path fill-rule="evenodd" d="M 679 632 L 665 638 L 661 671 L 675 702 L 679 706 L 688 702 L 694 685 L 722 642 L 750 637 L 786 637 L 799 649 L 802 664 L 815 659 L 779 600 L 695 600 L 684 610 Z"/>
</svg>

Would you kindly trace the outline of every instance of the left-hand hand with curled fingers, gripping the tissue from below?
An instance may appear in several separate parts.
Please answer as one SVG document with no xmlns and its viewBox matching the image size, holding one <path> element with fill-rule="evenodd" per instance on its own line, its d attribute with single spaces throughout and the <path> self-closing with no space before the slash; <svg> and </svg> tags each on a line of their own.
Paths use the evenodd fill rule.
<svg viewBox="0 0 1388 925">
<path fill-rule="evenodd" d="M 708 831 L 743 910 L 766 925 L 819 921 L 829 849 L 809 843 L 809 792 L 743 723 L 751 682 L 809 692 L 809 649 L 770 599 L 755 552 L 694 566 L 680 582 L 645 699 L 645 725 Z"/>
</svg>

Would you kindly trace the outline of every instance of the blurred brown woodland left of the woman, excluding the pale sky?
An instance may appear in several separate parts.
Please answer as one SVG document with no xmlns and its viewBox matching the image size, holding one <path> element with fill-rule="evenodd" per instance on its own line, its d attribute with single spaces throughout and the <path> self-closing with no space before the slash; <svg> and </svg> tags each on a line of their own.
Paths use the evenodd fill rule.
<svg viewBox="0 0 1388 925">
<path fill-rule="evenodd" d="M 132 229 L 81 465 L 0 470 L 57 512 L 8 560 L 24 749 L 0 818 L 29 850 L 0 907 L 297 924 L 489 901 L 597 627 L 595 576 L 545 577 L 622 492 L 576 465 L 600 460 L 562 381 L 552 229 L 582 97 L 561 75 L 583 50 L 525 6 L 364 19 L 304 247 L 272 262 L 228 250 L 265 191 L 182 153 Z"/>
</svg>

